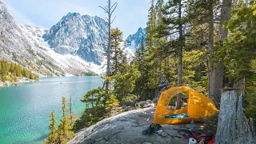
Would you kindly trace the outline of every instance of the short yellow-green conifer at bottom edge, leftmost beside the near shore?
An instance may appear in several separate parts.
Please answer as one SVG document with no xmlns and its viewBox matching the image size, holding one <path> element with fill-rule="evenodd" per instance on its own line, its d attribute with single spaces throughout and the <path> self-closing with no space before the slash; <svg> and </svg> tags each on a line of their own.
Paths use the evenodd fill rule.
<svg viewBox="0 0 256 144">
<path fill-rule="evenodd" d="M 56 118 L 55 118 L 55 112 L 54 110 L 50 114 L 50 133 L 48 134 L 48 138 L 45 140 L 46 143 L 54 144 L 58 143 L 58 129 L 56 126 Z"/>
</svg>

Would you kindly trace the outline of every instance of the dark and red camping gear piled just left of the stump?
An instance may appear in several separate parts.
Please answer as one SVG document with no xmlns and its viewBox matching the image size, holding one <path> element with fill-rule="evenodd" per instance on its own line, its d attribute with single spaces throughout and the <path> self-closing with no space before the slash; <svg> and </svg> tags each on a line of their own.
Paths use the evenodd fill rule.
<svg viewBox="0 0 256 144">
<path fill-rule="evenodd" d="M 189 130 L 182 128 L 178 130 L 178 134 L 185 138 L 187 141 L 194 138 L 197 142 L 203 141 L 206 144 L 214 144 L 215 134 L 211 130 Z"/>
</svg>

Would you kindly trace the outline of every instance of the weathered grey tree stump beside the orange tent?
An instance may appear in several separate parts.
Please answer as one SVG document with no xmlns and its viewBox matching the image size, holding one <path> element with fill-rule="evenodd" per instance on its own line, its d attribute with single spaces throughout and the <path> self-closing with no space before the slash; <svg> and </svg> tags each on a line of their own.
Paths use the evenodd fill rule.
<svg viewBox="0 0 256 144">
<path fill-rule="evenodd" d="M 242 96 L 234 90 L 222 91 L 215 144 L 255 144 L 253 122 L 242 110 Z"/>
</svg>

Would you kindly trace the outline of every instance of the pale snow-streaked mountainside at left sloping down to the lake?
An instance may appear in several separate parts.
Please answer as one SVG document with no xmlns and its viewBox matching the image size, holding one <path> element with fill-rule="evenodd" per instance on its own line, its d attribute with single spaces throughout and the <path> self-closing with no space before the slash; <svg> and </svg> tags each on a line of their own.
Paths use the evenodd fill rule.
<svg viewBox="0 0 256 144">
<path fill-rule="evenodd" d="M 40 26 L 18 25 L 0 1 L 0 58 L 18 62 L 41 75 L 82 75 L 88 70 L 102 73 L 100 66 L 71 54 L 57 54 L 44 42 L 48 31 Z"/>
</svg>

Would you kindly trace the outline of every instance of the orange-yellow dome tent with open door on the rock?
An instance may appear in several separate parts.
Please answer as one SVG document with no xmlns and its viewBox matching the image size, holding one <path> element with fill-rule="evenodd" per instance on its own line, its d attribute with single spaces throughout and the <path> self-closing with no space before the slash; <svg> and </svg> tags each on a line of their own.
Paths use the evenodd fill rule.
<svg viewBox="0 0 256 144">
<path fill-rule="evenodd" d="M 187 106 L 181 110 L 167 110 L 170 98 L 175 94 L 186 92 L 188 96 Z M 188 86 L 171 87 L 162 92 L 156 110 L 154 112 L 154 123 L 162 124 L 182 124 L 190 123 L 192 120 L 198 122 L 201 118 L 208 118 L 218 112 L 212 99 L 198 93 Z M 174 118 L 174 114 L 182 114 L 182 118 Z"/>
</svg>

